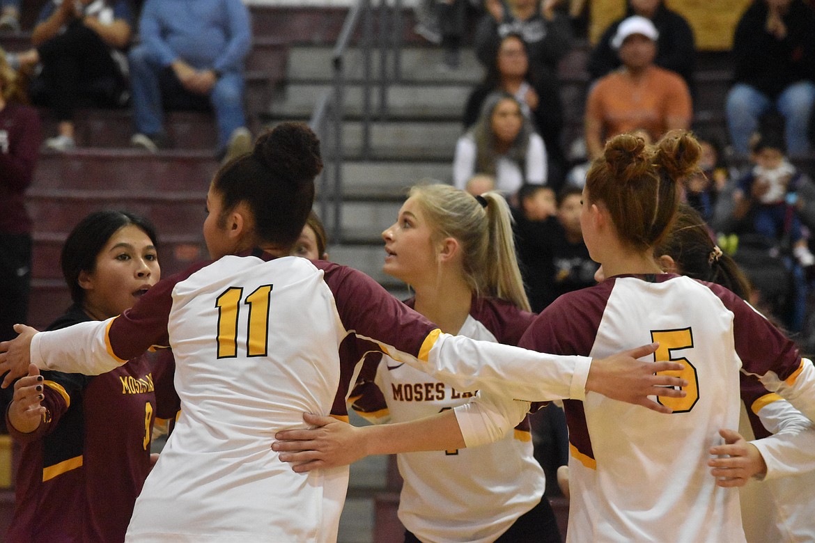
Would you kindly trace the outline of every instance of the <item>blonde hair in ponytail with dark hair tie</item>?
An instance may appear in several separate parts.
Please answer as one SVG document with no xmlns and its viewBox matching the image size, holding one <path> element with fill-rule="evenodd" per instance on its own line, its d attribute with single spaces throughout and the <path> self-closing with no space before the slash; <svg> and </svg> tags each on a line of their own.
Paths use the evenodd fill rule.
<svg viewBox="0 0 815 543">
<path fill-rule="evenodd" d="M 491 191 L 475 197 L 440 183 L 413 186 L 408 196 L 429 221 L 434 241 L 458 241 L 465 279 L 476 296 L 530 310 L 515 257 L 512 214 L 503 196 Z"/>
</svg>

